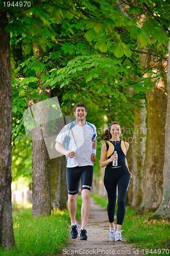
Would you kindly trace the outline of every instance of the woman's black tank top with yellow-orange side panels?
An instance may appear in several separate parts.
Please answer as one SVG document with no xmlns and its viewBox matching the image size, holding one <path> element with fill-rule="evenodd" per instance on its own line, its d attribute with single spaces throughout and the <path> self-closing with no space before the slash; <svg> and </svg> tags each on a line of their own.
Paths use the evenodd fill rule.
<svg viewBox="0 0 170 256">
<path fill-rule="evenodd" d="M 106 147 L 107 147 L 107 154 L 106 154 L 107 159 L 109 159 L 114 154 L 114 151 L 117 151 L 117 155 L 118 155 L 117 166 L 126 166 L 125 159 L 126 159 L 127 148 L 125 145 L 125 141 L 108 140 L 106 141 Z M 107 167 L 113 167 L 112 162 L 110 162 L 107 165 Z"/>
</svg>

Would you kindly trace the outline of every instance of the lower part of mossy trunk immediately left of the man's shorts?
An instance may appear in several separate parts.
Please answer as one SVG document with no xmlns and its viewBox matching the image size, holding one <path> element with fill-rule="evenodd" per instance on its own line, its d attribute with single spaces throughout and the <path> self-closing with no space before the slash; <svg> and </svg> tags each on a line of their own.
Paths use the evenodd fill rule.
<svg viewBox="0 0 170 256">
<path fill-rule="evenodd" d="M 66 157 L 50 160 L 52 209 L 64 210 L 67 203 Z"/>
</svg>

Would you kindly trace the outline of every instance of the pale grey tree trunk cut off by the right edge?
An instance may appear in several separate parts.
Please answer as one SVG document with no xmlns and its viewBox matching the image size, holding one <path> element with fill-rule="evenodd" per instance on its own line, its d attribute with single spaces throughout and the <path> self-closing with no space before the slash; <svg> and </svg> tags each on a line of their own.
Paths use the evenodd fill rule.
<svg viewBox="0 0 170 256">
<path fill-rule="evenodd" d="M 169 54 L 170 56 L 170 42 Z M 155 212 L 156 215 L 162 215 L 170 218 L 170 60 L 168 59 L 167 71 L 167 112 L 165 125 L 165 152 L 164 152 L 164 166 L 163 166 L 163 199 L 161 205 Z M 163 152 L 163 148 L 162 148 Z"/>
</svg>

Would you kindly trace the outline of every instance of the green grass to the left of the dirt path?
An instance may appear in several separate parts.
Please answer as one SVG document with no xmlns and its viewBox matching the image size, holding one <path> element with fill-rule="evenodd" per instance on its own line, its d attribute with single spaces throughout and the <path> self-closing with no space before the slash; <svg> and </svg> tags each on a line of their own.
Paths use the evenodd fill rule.
<svg viewBox="0 0 170 256">
<path fill-rule="evenodd" d="M 13 227 L 16 248 L 10 252 L 0 248 L 3 256 L 50 256 L 61 252 L 70 236 L 68 210 L 57 210 L 49 217 L 32 218 L 31 204 L 13 205 Z M 81 198 L 78 198 L 77 219 L 80 218 Z"/>
</svg>

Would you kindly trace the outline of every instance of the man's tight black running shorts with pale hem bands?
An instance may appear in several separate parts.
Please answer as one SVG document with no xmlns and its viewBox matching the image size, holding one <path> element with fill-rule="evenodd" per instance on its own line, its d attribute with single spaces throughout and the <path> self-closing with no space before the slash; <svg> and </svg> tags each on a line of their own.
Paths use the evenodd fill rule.
<svg viewBox="0 0 170 256">
<path fill-rule="evenodd" d="M 76 195 L 79 192 L 79 183 L 81 180 L 81 190 L 91 189 L 93 177 L 93 166 L 76 166 L 66 168 L 67 189 L 69 195 Z"/>
</svg>

